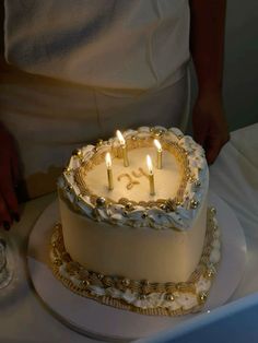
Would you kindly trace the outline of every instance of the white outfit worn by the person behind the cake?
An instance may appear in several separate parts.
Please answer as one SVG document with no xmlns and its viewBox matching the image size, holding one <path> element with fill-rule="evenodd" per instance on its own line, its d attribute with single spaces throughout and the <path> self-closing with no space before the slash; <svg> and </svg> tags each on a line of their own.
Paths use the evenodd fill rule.
<svg viewBox="0 0 258 343">
<path fill-rule="evenodd" d="M 187 0 L 5 0 L 1 120 L 32 196 L 75 146 L 143 125 L 185 128 Z"/>
</svg>

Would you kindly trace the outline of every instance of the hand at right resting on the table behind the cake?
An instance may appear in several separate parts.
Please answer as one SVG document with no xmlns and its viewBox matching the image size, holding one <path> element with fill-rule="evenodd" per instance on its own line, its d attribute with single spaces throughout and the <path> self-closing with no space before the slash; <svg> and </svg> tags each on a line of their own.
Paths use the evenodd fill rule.
<svg viewBox="0 0 258 343">
<path fill-rule="evenodd" d="M 221 95 L 199 96 L 192 110 L 194 138 L 206 150 L 208 164 L 218 157 L 230 133 Z"/>
</svg>

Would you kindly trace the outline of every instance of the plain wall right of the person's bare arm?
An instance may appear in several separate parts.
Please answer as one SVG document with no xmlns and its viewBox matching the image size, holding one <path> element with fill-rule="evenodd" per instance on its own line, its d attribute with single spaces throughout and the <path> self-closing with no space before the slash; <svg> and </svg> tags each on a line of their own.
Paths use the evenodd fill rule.
<svg viewBox="0 0 258 343">
<path fill-rule="evenodd" d="M 258 122 L 258 0 L 227 0 L 224 99 L 231 129 Z"/>
</svg>

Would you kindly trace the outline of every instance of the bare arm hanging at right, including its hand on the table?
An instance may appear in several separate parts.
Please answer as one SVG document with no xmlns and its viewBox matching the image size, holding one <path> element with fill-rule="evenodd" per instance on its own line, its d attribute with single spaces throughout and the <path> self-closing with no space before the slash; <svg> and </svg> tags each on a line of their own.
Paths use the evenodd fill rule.
<svg viewBox="0 0 258 343">
<path fill-rule="evenodd" d="M 189 4 L 190 49 L 199 87 L 192 113 L 194 135 L 211 164 L 228 140 L 222 100 L 226 0 L 189 0 Z"/>
</svg>

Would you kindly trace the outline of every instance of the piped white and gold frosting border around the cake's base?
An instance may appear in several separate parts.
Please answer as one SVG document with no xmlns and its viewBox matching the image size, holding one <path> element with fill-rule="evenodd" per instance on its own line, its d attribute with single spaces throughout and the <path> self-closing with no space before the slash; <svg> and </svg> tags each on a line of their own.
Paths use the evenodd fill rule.
<svg viewBox="0 0 258 343">
<path fill-rule="evenodd" d="M 208 209 L 207 233 L 199 264 L 184 283 L 150 283 L 126 276 L 103 275 L 72 261 L 66 251 L 61 224 L 50 241 L 54 274 L 70 291 L 102 304 L 154 316 L 179 316 L 201 310 L 221 258 L 220 229 L 215 209 Z"/>
</svg>

